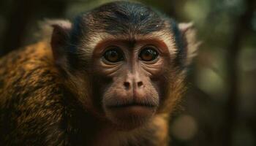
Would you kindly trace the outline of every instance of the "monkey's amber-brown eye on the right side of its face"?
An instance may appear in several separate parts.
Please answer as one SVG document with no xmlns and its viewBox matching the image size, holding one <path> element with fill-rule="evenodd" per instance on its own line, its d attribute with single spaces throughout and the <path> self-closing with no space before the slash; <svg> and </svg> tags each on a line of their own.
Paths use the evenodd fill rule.
<svg viewBox="0 0 256 146">
<path fill-rule="evenodd" d="M 142 61 L 154 61 L 158 57 L 159 53 L 153 46 L 144 47 L 140 51 L 139 58 Z"/>
</svg>

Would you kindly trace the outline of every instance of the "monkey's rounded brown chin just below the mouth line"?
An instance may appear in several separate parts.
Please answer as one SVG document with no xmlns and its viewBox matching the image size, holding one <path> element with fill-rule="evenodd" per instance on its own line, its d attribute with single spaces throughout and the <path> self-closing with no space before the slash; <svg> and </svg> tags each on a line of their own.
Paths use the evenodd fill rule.
<svg viewBox="0 0 256 146">
<path fill-rule="evenodd" d="M 154 116 L 157 107 L 132 105 L 105 108 L 107 118 L 118 130 L 132 130 L 145 125 Z"/>
</svg>

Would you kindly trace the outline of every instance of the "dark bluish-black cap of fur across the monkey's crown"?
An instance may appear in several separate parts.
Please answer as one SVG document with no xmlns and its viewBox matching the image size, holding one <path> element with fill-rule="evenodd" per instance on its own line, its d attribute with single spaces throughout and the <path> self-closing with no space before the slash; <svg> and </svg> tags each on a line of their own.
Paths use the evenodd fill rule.
<svg viewBox="0 0 256 146">
<path fill-rule="evenodd" d="M 99 33 L 124 34 L 132 38 L 138 34 L 146 35 L 154 31 L 170 30 L 170 25 L 166 26 L 169 20 L 143 4 L 116 1 L 104 4 L 75 18 L 71 36 L 72 41 L 79 41 L 78 39 L 83 36 L 93 36 Z"/>
</svg>

